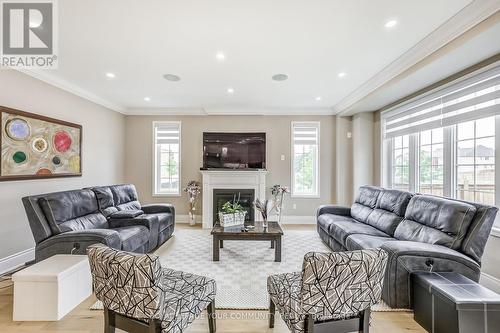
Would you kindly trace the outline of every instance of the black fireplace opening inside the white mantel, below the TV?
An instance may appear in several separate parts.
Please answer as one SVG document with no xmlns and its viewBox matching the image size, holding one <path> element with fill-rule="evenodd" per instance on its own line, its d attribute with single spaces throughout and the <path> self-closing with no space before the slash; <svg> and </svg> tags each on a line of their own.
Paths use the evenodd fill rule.
<svg viewBox="0 0 500 333">
<path fill-rule="evenodd" d="M 240 199 L 240 205 L 245 208 L 247 215 L 245 216 L 245 221 L 254 220 L 253 202 L 255 200 L 255 190 L 253 189 L 214 189 L 213 190 L 213 223 L 219 221 L 218 212 L 221 210 L 222 205 L 228 201 L 232 201 L 234 198 Z"/>
</svg>

